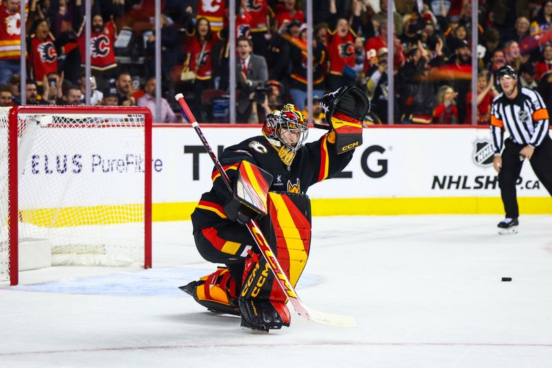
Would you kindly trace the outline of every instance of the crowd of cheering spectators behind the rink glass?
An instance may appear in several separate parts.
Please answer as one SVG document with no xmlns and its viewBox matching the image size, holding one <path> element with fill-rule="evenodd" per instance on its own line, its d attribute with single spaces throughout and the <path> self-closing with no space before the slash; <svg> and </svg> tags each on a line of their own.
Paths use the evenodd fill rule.
<svg viewBox="0 0 552 368">
<path fill-rule="evenodd" d="M 90 45 L 83 0 L 29 0 L 26 103 L 83 104 L 88 48 L 92 105 L 141 105 L 155 114 L 159 98 L 154 121 L 176 122 L 181 117 L 170 96 L 183 92 L 198 119 L 228 121 L 229 1 L 237 10 L 238 122 L 262 122 L 282 102 L 306 112 L 311 48 L 315 121 L 324 120 L 317 106 L 322 94 L 357 85 L 372 101 L 369 123 L 388 123 L 388 99 L 394 123 L 471 123 L 471 0 L 395 0 L 392 26 L 386 0 L 315 0 L 311 44 L 301 0 L 164 0 L 161 60 L 154 52 L 153 0 L 93 1 Z M 500 89 L 493 75 L 506 64 L 552 108 L 552 0 L 479 0 L 477 9 L 477 123 L 489 123 Z M 19 10 L 19 0 L 1 0 L 3 106 L 21 101 Z M 157 61 L 162 96 L 155 95 Z"/>
</svg>

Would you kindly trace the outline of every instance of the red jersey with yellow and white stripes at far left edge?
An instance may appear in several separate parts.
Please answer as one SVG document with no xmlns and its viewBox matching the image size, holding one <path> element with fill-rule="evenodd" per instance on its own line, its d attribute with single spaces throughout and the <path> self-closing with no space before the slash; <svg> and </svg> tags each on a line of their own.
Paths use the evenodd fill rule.
<svg viewBox="0 0 552 368">
<path fill-rule="evenodd" d="M 0 60 L 21 57 L 21 15 L 10 14 L 0 3 Z"/>
</svg>

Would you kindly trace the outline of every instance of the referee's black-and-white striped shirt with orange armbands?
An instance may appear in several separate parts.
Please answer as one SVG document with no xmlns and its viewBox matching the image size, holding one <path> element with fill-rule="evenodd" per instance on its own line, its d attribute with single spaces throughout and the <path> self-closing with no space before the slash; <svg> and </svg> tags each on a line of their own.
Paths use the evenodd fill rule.
<svg viewBox="0 0 552 368">
<path fill-rule="evenodd" d="M 538 147 L 548 129 L 548 110 L 538 92 L 521 88 L 515 99 L 508 99 L 504 93 L 493 99 L 491 135 L 495 154 L 502 151 L 504 130 L 508 130 L 515 143 Z"/>
</svg>

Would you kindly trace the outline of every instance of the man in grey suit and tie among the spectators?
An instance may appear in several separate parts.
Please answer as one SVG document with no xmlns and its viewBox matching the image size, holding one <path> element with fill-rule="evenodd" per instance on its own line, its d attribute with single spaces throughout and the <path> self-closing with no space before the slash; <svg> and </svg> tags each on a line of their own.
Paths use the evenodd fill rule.
<svg viewBox="0 0 552 368">
<path fill-rule="evenodd" d="M 238 121 L 258 123 L 257 102 L 264 101 L 264 94 L 255 92 L 268 81 L 268 68 L 264 57 L 253 54 L 253 41 L 247 37 L 237 39 L 236 83 L 239 91 L 237 103 Z M 264 110 L 263 110 L 264 112 Z"/>
</svg>

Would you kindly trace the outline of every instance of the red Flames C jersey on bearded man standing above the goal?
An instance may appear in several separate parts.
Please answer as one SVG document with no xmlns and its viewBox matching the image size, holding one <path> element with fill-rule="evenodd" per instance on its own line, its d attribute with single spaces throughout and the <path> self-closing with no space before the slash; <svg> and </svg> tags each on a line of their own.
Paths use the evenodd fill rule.
<svg viewBox="0 0 552 368">
<path fill-rule="evenodd" d="M 117 66 L 115 60 L 115 24 L 112 21 L 108 21 L 103 25 L 101 32 L 90 32 L 90 64 L 92 70 L 108 70 Z M 84 59 L 86 55 L 85 34 L 84 34 L 84 22 L 81 25 L 79 33 L 79 49 L 81 56 Z"/>
</svg>

